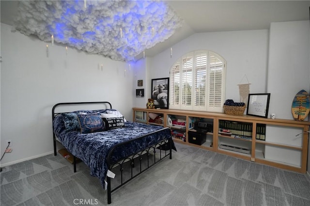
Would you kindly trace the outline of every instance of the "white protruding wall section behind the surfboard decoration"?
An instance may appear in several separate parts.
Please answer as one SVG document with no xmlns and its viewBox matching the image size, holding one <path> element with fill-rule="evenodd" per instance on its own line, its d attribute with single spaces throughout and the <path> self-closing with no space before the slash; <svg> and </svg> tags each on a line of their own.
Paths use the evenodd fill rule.
<svg viewBox="0 0 310 206">
<path fill-rule="evenodd" d="M 297 92 L 310 92 L 309 21 L 277 22 L 270 25 L 267 92 L 269 114 L 294 119 L 292 101 Z"/>
</svg>

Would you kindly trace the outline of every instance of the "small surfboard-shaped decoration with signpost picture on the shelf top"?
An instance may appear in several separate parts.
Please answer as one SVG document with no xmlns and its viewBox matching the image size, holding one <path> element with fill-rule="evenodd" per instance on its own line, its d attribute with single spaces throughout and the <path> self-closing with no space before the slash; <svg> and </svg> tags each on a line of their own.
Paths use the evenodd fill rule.
<svg viewBox="0 0 310 206">
<path fill-rule="evenodd" d="M 310 111 L 310 96 L 305 90 L 300 90 L 292 102 L 292 114 L 294 120 L 303 121 Z"/>
</svg>

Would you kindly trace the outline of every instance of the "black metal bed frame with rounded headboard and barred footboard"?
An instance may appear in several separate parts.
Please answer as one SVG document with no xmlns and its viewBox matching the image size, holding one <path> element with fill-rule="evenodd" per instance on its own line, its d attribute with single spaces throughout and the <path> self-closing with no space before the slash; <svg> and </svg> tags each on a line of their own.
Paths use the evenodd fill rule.
<svg viewBox="0 0 310 206">
<path fill-rule="evenodd" d="M 63 113 L 63 112 L 58 112 L 56 113 L 55 112 L 55 109 L 58 107 L 58 106 L 61 106 L 61 105 L 78 105 L 78 104 L 107 104 L 109 105 L 109 109 L 112 109 L 112 105 L 109 103 L 109 102 L 106 102 L 106 101 L 103 101 L 103 102 L 66 102 L 66 103 L 58 103 L 58 104 L 55 104 L 54 107 L 52 108 L 52 121 L 54 121 L 55 119 L 55 116 L 59 113 Z M 164 130 L 164 129 L 169 129 L 168 127 L 166 128 L 162 128 L 160 130 Z M 112 158 L 112 155 L 113 155 L 113 152 L 114 150 L 117 148 L 117 147 L 120 147 L 120 146 L 124 146 L 128 143 L 131 143 L 133 141 L 136 141 L 136 140 L 140 140 L 142 138 L 145 138 L 146 136 L 148 135 L 151 135 L 153 133 L 156 133 L 158 132 L 159 130 L 157 131 L 154 131 L 154 132 L 151 132 L 149 134 L 146 134 L 146 135 L 143 135 L 143 136 L 140 136 L 138 138 L 135 138 L 135 139 L 131 139 L 129 141 L 126 141 L 126 142 L 123 142 L 123 143 L 118 143 L 116 144 L 115 146 L 113 146 L 109 153 L 108 153 L 108 157 L 107 157 L 107 164 L 108 164 L 108 168 L 109 170 L 111 170 L 112 168 L 118 166 L 120 167 L 120 173 L 121 173 L 121 184 L 116 186 L 114 189 L 111 189 L 111 177 L 109 177 L 107 175 L 107 182 L 108 182 L 108 187 L 107 187 L 107 191 L 108 191 L 108 204 L 111 204 L 111 193 L 117 189 L 119 189 L 120 187 L 122 187 L 124 184 L 128 183 L 130 180 L 134 179 L 135 177 L 137 177 L 139 174 L 142 174 L 144 171 L 148 170 L 149 168 L 151 168 L 152 166 L 154 166 L 156 163 L 160 162 L 161 160 L 163 160 L 164 158 L 168 157 L 171 159 L 172 158 L 172 136 L 170 138 L 166 138 L 158 143 L 155 143 L 153 145 L 150 145 L 148 146 L 147 148 L 143 148 L 142 150 L 134 153 L 134 154 L 131 154 L 125 158 L 122 158 L 122 159 L 118 159 L 117 161 L 111 161 L 111 158 Z M 57 155 L 57 149 L 56 149 L 56 136 L 55 136 L 55 133 L 54 133 L 54 126 L 53 126 L 53 143 L 54 143 L 54 156 Z M 161 146 L 163 144 L 169 144 L 169 150 L 162 150 L 161 149 Z M 159 158 L 157 157 L 156 159 L 156 148 L 159 149 Z M 162 151 L 163 154 L 162 154 Z M 151 157 L 151 152 L 154 153 L 154 162 L 150 163 L 150 157 Z M 147 157 L 147 167 L 142 169 L 142 166 L 141 166 L 141 162 L 142 162 L 142 155 L 146 155 Z M 140 171 L 137 173 L 137 174 L 134 174 L 133 172 L 133 168 L 135 167 L 135 159 L 139 158 L 139 161 L 140 161 Z M 123 180 L 123 170 L 124 170 L 124 163 L 125 162 L 130 162 L 130 166 L 131 166 L 131 176 L 129 179 L 127 180 Z M 77 172 L 77 158 L 75 156 L 73 156 L 73 166 L 74 166 L 74 172 Z"/>
</svg>

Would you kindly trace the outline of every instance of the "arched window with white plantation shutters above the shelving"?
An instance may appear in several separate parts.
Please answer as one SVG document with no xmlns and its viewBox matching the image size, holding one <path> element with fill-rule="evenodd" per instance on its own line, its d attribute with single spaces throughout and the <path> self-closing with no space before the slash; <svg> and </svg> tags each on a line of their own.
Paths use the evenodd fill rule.
<svg viewBox="0 0 310 206">
<path fill-rule="evenodd" d="M 169 109 L 223 112 L 226 61 L 217 53 L 197 50 L 170 69 Z"/>
</svg>

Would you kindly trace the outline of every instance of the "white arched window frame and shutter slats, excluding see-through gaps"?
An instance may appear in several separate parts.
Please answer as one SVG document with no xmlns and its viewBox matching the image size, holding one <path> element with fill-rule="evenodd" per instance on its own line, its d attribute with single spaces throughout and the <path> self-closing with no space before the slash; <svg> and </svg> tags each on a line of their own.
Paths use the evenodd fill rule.
<svg viewBox="0 0 310 206">
<path fill-rule="evenodd" d="M 198 101 L 196 101 L 197 98 L 197 92 L 196 92 L 196 86 L 197 85 L 203 85 L 203 82 L 200 82 L 199 84 L 197 84 L 196 82 L 196 72 L 198 70 L 202 71 L 203 74 L 203 70 L 201 70 L 200 66 L 203 66 L 201 64 L 198 64 L 197 60 L 199 59 L 199 55 L 200 55 L 200 60 L 202 62 L 203 59 L 203 55 L 204 54 L 206 56 L 206 64 L 205 64 L 205 78 L 204 78 L 204 84 L 205 84 L 205 96 L 204 96 L 204 100 L 200 99 Z M 202 55 L 202 56 L 201 56 Z M 188 59 L 188 57 L 192 57 L 191 59 Z M 212 60 L 214 60 L 215 62 L 210 62 L 211 58 Z M 191 61 L 191 66 L 188 64 L 184 64 L 185 62 L 189 62 Z M 213 67 L 211 67 L 211 65 Z M 199 68 L 198 68 L 199 67 Z M 187 72 L 184 72 L 184 70 L 191 70 L 191 78 L 187 77 L 184 78 L 183 75 L 186 73 L 186 75 L 188 75 Z M 217 72 L 217 70 L 219 70 L 219 72 Z M 210 77 L 211 72 L 214 71 L 214 76 Z M 178 74 L 178 75 L 177 75 Z M 202 78 L 201 76 L 199 77 L 200 79 Z M 214 87 L 211 87 L 211 81 L 210 78 L 213 80 L 212 82 L 214 82 Z M 185 82 L 183 82 L 183 80 L 187 80 Z M 189 82 L 189 79 L 191 79 L 191 82 Z M 202 78 L 203 79 L 203 78 Z M 220 84 L 219 84 L 220 81 Z M 188 105 L 188 101 L 184 101 L 183 99 L 183 92 L 184 90 L 184 85 L 191 85 L 191 96 L 190 96 L 190 105 Z M 185 55 L 182 55 L 175 63 L 173 63 L 173 65 L 171 66 L 170 69 L 170 97 L 169 97 L 169 108 L 170 109 L 177 109 L 177 110 L 192 110 L 192 111 L 209 111 L 209 112 L 224 112 L 223 110 L 223 104 L 225 102 L 225 88 L 226 88 L 226 60 L 220 56 L 219 54 L 210 51 L 210 50 L 195 50 L 195 51 L 191 51 L 186 53 Z M 174 90 L 174 88 L 178 88 L 177 90 Z M 213 99 L 216 100 L 220 97 L 220 100 L 216 100 L 212 103 L 212 105 L 210 105 L 211 103 L 209 102 L 210 100 L 210 90 L 213 88 L 213 94 L 214 97 Z M 218 91 L 217 89 L 220 88 L 220 91 Z M 186 90 L 188 91 L 188 90 Z M 176 95 L 175 93 L 179 93 L 178 95 Z M 195 94 L 196 92 L 196 94 Z M 187 98 L 189 98 L 188 95 L 186 95 Z M 212 98 L 211 98 L 212 99 Z M 196 102 L 195 102 L 196 101 Z M 203 102 L 204 101 L 204 105 L 195 105 L 195 103 L 197 102 Z M 186 102 L 187 104 L 183 104 L 184 102 Z"/>
</svg>

